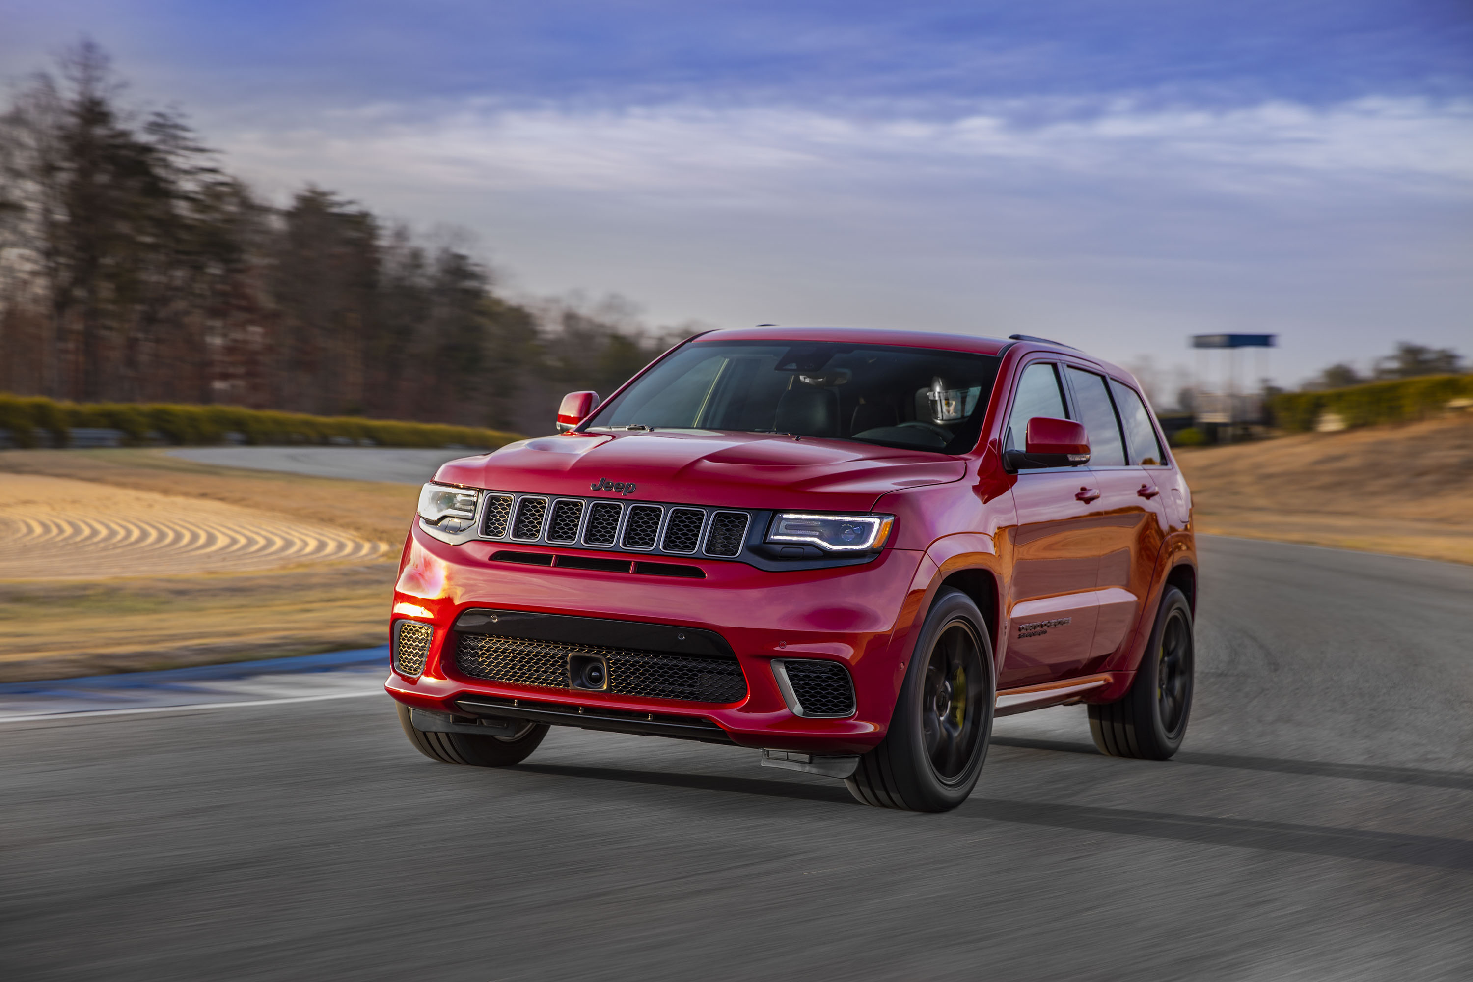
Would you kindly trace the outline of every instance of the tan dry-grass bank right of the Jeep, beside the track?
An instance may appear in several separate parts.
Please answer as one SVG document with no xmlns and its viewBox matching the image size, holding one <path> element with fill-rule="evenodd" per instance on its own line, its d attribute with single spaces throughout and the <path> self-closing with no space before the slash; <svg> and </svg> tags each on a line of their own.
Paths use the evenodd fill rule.
<svg viewBox="0 0 1473 982">
<path fill-rule="evenodd" d="M 1473 417 L 1177 452 L 1198 530 L 1473 564 Z"/>
</svg>

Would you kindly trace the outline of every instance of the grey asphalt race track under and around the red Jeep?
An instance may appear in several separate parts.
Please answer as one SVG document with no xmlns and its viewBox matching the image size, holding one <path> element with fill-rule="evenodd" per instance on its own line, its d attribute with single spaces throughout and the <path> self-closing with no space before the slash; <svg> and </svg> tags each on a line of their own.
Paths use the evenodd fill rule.
<svg viewBox="0 0 1473 982">
<path fill-rule="evenodd" d="M 1010 717 L 940 816 L 380 695 L 0 723 L 0 978 L 1473 978 L 1473 568 L 1200 545 L 1177 760 Z"/>
</svg>

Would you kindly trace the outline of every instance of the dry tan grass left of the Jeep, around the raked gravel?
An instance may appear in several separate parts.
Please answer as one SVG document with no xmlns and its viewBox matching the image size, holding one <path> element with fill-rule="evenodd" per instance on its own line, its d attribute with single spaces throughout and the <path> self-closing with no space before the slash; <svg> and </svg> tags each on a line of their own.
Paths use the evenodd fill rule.
<svg viewBox="0 0 1473 982">
<path fill-rule="evenodd" d="M 161 451 L 6 451 L 0 474 L 222 504 L 387 543 L 376 559 L 274 570 L 0 582 L 0 682 L 368 648 L 387 640 L 399 543 L 418 489 L 194 464 Z M 130 499 L 119 495 L 119 499 Z M 184 499 L 184 501 L 181 501 Z M 242 564 L 245 565 L 245 564 Z M 166 570 L 164 562 L 144 570 Z"/>
</svg>

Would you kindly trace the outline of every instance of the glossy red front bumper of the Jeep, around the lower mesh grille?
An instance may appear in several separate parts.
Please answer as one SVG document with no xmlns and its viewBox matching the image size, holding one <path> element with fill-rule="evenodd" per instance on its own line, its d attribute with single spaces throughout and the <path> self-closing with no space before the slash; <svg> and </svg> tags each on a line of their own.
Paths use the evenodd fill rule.
<svg viewBox="0 0 1473 982">
<path fill-rule="evenodd" d="M 695 561 L 704 579 L 675 579 L 492 561 L 495 551 L 495 543 L 448 545 L 418 527 L 411 531 L 395 587 L 393 618 L 429 624 L 433 637 L 418 676 L 389 676 L 384 688 L 395 699 L 461 717 L 471 704 L 516 702 L 523 718 L 563 721 L 554 716 L 566 713 L 569 724 L 595 723 L 580 721 L 582 710 L 583 716 L 600 717 L 589 729 L 622 729 L 608 720 L 625 718 L 625 732 L 661 732 L 655 726 L 638 729 L 636 717 L 647 717 L 647 723 L 714 724 L 719 732 L 706 730 L 714 739 L 813 754 L 859 754 L 884 736 L 904 674 L 912 632 L 903 620 L 904 611 L 915 608 L 906 601 L 919 552 L 885 549 L 863 565 L 784 573 L 744 562 Z M 731 704 L 710 704 L 476 679 L 457 668 L 454 624 L 463 612 L 485 608 L 713 632 L 741 664 L 747 695 Z M 589 637 L 588 643 L 608 642 Z M 854 685 L 854 714 L 813 718 L 792 713 L 772 667 L 773 660 L 784 658 L 843 664 Z M 548 716 L 527 716 L 527 707 Z M 670 735 L 703 739 L 700 732 Z"/>
</svg>

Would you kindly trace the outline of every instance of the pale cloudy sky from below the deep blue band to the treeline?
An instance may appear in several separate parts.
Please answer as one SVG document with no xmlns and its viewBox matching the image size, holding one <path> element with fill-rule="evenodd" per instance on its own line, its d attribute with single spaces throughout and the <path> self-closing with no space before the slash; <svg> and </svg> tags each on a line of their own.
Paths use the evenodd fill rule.
<svg viewBox="0 0 1473 982">
<path fill-rule="evenodd" d="M 661 322 L 1022 331 L 1167 362 L 1187 333 L 1262 330 L 1283 380 L 1398 339 L 1473 353 L 1470 102 L 470 102 L 208 133 L 270 190 L 468 225 L 523 287 L 625 293 Z"/>
</svg>

